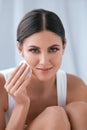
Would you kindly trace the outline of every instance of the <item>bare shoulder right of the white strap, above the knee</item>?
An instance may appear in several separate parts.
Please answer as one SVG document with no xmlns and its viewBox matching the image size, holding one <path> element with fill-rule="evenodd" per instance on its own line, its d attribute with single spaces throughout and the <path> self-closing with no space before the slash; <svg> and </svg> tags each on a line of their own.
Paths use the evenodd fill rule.
<svg viewBox="0 0 87 130">
<path fill-rule="evenodd" d="M 87 101 L 87 87 L 78 76 L 67 74 L 68 101 Z"/>
</svg>

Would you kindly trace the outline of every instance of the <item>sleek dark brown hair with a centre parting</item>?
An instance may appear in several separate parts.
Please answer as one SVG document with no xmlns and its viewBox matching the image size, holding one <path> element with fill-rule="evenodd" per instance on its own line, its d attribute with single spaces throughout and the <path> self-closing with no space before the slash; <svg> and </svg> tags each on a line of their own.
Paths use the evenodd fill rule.
<svg viewBox="0 0 87 130">
<path fill-rule="evenodd" d="M 60 18 L 54 12 L 44 9 L 32 10 L 25 14 L 18 25 L 17 41 L 22 45 L 25 38 L 43 30 L 56 33 L 64 44 L 65 30 Z"/>
</svg>

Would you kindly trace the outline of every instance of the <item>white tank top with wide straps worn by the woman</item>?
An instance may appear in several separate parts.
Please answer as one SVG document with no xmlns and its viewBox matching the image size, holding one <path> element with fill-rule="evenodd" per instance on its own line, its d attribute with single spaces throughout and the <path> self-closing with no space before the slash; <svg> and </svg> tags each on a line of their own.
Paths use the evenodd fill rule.
<svg viewBox="0 0 87 130">
<path fill-rule="evenodd" d="M 5 77 L 5 80 L 7 81 L 8 78 L 10 77 L 10 74 L 14 68 L 11 69 L 6 69 L 3 71 L 0 71 Z M 66 73 L 63 70 L 59 70 L 57 72 L 57 100 L 58 100 L 58 105 L 64 107 L 66 105 L 66 96 L 67 96 L 67 76 Z M 9 109 L 5 113 L 6 116 L 6 123 L 9 121 L 11 113 L 14 109 L 15 106 L 15 101 L 14 99 L 8 94 L 8 102 L 9 102 Z"/>
</svg>

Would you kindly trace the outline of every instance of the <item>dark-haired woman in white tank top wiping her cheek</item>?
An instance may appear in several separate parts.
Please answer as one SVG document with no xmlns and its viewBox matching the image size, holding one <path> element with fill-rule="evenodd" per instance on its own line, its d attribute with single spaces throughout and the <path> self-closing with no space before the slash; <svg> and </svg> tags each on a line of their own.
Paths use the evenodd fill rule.
<svg viewBox="0 0 87 130">
<path fill-rule="evenodd" d="M 0 130 L 87 130 L 86 85 L 60 70 L 66 47 L 60 18 L 43 9 L 28 12 L 17 47 L 27 63 L 0 75 Z"/>
</svg>

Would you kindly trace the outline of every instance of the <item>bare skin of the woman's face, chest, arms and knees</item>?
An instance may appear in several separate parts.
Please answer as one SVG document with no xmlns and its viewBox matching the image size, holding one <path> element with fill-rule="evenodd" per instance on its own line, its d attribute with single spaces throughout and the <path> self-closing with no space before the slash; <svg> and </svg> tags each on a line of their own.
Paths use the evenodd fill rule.
<svg viewBox="0 0 87 130">
<path fill-rule="evenodd" d="M 29 77 L 30 68 L 22 63 L 7 82 L 0 75 L 0 130 L 87 130 L 87 88 L 79 77 L 67 74 L 66 106 L 57 103 L 56 72 L 66 42 L 62 45 L 58 35 L 42 31 L 17 46 L 33 73 Z M 8 93 L 16 105 L 6 126 Z"/>
</svg>

